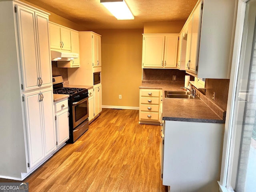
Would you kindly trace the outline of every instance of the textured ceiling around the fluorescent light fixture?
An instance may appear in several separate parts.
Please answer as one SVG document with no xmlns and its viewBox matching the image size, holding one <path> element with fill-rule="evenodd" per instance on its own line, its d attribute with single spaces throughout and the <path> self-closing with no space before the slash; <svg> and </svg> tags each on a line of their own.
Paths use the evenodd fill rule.
<svg viewBox="0 0 256 192">
<path fill-rule="evenodd" d="M 143 28 L 145 22 L 185 21 L 198 0 L 126 0 L 134 20 L 117 20 L 100 0 L 26 0 L 92 29 Z"/>
</svg>

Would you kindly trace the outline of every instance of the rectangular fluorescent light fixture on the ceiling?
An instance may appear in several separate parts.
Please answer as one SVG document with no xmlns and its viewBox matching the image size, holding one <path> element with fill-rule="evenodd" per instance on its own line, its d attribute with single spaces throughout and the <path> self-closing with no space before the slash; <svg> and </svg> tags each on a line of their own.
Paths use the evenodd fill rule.
<svg viewBox="0 0 256 192">
<path fill-rule="evenodd" d="M 124 0 L 100 0 L 100 2 L 113 14 L 118 20 L 134 19 L 132 12 Z"/>
</svg>

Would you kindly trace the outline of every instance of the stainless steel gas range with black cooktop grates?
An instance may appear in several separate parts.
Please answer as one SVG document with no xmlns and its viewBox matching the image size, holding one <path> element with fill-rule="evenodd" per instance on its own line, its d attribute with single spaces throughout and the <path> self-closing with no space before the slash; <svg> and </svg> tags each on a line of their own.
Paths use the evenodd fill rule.
<svg viewBox="0 0 256 192">
<path fill-rule="evenodd" d="M 69 143 L 74 143 L 89 128 L 88 89 L 63 87 L 62 76 L 52 77 L 53 93 L 68 94 Z"/>
</svg>

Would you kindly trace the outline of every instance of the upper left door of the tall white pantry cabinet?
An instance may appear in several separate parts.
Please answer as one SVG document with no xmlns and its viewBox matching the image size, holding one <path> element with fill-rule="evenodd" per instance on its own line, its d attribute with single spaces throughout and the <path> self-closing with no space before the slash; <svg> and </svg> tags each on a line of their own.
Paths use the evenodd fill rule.
<svg viewBox="0 0 256 192">
<path fill-rule="evenodd" d="M 20 62 L 24 91 L 38 88 L 38 52 L 34 11 L 17 6 Z"/>
</svg>

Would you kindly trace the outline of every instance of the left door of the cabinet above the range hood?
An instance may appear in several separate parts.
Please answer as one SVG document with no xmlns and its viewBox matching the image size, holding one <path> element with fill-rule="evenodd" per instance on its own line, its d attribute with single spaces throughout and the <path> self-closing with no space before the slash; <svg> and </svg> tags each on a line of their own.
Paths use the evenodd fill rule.
<svg viewBox="0 0 256 192">
<path fill-rule="evenodd" d="M 60 27 L 49 23 L 50 29 L 50 47 L 51 49 L 58 49 L 60 50 L 61 47 L 61 40 L 60 40 Z"/>
</svg>

